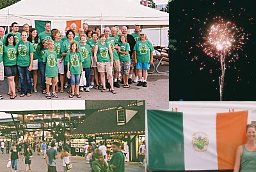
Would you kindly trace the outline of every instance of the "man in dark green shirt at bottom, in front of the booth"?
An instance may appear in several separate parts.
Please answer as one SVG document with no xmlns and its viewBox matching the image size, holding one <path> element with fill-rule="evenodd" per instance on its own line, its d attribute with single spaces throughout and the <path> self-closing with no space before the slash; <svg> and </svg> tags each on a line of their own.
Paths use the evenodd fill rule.
<svg viewBox="0 0 256 172">
<path fill-rule="evenodd" d="M 113 172 L 124 172 L 124 154 L 120 150 L 120 144 L 113 142 L 112 150 L 114 155 L 109 161 L 109 166 L 113 169 Z"/>
</svg>

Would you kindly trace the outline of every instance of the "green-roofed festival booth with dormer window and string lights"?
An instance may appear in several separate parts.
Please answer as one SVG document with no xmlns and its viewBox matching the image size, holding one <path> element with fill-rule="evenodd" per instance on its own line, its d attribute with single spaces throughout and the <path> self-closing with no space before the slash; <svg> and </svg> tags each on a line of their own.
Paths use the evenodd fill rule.
<svg viewBox="0 0 256 172">
<path fill-rule="evenodd" d="M 86 107 L 86 120 L 72 131 L 70 140 L 120 141 L 125 161 L 138 161 L 138 148 L 145 140 L 145 101 L 98 101 L 97 106 L 86 101 Z M 80 155 L 75 145 L 71 148 L 72 154 Z"/>
</svg>

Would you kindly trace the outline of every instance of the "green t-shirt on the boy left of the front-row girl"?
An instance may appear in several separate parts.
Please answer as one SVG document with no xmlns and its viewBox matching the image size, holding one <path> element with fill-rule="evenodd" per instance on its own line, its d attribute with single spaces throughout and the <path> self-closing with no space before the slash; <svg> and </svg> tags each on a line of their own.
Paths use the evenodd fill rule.
<svg viewBox="0 0 256 172">
<path fill-rule="evenodd" d="M 45 77 L 52 78 L 58 76 L 57 54 L 55 51 L 45 51 L 43 62 L 46 62 Z"/>
</svg>

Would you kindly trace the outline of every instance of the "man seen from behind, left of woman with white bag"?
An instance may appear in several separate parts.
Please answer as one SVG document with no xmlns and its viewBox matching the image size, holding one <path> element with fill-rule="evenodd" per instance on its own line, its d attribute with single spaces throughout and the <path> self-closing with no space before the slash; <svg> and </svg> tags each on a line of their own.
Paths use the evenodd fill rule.
<svg viewBox="0 0 256 172">
<path fill-rule="evenodd" d="M 47 164 L 47 172 L 57 172 L 56 161 L 58 159 L 58 152 L 54 149 L 55 143 L 51 142 L 51 148 L 49 148 L 45 155 L 45 162 Z"/>
</svg>

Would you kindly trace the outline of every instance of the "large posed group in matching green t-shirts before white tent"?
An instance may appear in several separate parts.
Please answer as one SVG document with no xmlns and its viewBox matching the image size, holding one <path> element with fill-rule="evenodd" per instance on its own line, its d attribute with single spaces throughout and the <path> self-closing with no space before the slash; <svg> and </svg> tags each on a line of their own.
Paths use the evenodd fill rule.
<svg viewBox="0 0 256 172">
<path fill-rule="evenodd" d="M 93 87 L 116 94 L 119 76 L 123 87 L 129 88 L 133 71 L 133 82 L 147 87 L 154 47 L 141 32 L 140 24 L 134 25 L 132 34 L 127 33 L 126 26 L 120 32 L 118 25 L 105 27 L 104 31 L 95 27 L 92 31 L 83 24 L 76 33 L 76 24 L 71 24 L 63 36 L 60 30 L 51 30 L 50 23 L 44 27 L 45 31 L 38 34 L 35 28 L 29 30 L 29 25 L 24 24 L 20 33 L 19 25 L 13 22 L 12 31 L 6 35 L 0 27 L 0 80 L 8 78 L 10 99 L 15 99 L 19 91 L 20 97 L 31 96 L 32 87 L 37 92 L 38 69 L 42 94 L 47 99 L 58 97 L 57 93 L 65 92 L 67 87 L 70 98 L 80 98 L 79 91 L 89 92 Z"/>
</svg>

